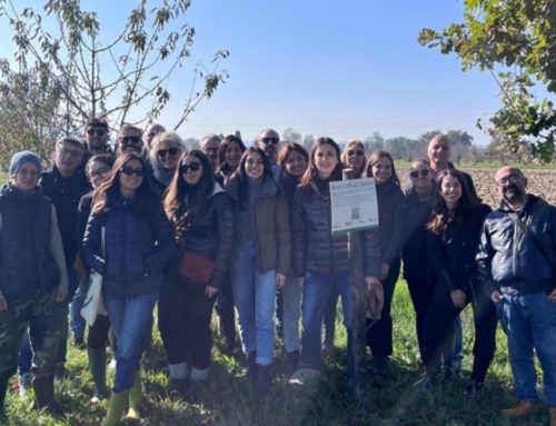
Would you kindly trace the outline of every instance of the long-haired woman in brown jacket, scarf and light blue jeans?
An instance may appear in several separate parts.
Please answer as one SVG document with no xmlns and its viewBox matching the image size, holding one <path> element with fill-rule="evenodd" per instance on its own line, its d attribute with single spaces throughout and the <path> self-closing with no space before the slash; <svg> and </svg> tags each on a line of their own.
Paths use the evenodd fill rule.
<svg viewBox="0 0 556 426">
<path fill-rule="evenodd" d="M 248 148 L 226 191 L 236 201 L 236 244 L 230 275 L 248 376 L 265 399 L 271 384 L 276 289 L 286 284 L 291 231 L 286 197 L 260 148 Z"/>
</svg>

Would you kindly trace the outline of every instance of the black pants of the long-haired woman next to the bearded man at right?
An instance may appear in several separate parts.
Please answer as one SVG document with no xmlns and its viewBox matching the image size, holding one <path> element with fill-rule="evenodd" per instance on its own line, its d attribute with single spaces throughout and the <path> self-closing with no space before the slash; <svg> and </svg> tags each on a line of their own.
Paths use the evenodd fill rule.
<svg viewBox="0 0 556 426">
<path fill-rule="evenodd" d="M 473 303 L 475 321 L 475 341 L 473 345 L 474 382 L 484 382 L 488 367 L 496 350 L 496 308 L 486 296 L 479 296 Z M 439 371 L 441 357 L 454 340 L 454 319 L 461 311 L 451 300 L 434 299 L 425 321 L 425 367 L 427 375 L 434 376 Z"/>
</svg>

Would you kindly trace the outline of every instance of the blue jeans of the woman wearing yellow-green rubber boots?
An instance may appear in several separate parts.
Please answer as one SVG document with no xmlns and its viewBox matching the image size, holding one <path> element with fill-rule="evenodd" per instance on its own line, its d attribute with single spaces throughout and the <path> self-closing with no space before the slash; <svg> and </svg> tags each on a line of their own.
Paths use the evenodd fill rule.
<svg viewBox="0 0 556 426">
<path fill-rule="evenodd" d="M 158 291 L 130 298 L 105 295 L 105 306 L 118 339 L 113 392 L 131 388 L 139 370 L 145 333 L 152 318 Z"/>
</svg>

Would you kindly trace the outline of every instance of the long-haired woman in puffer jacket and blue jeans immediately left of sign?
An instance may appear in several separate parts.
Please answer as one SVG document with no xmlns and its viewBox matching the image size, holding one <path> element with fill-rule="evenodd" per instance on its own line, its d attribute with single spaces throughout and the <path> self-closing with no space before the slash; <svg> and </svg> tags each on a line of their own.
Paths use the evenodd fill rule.
<svg viewBox="0 0 556 426">
<path fill-rule="evenodd" d="M 311 149 L 309 167 L 294 196 L 292 269 L 302 284 L 302 363 L 320 369 L 320 325 L 332 288 L 338 288 L 348 336 L 348 386 L 354 378 L 353 295 L 346 234 L 331 234 L 330 182 L 341 180 L 340 151 L 330 138 L 318 138 Z M 369 288 L 379 286 L 378 238 L 366 249 L 365 280 Z"/>
</svg>

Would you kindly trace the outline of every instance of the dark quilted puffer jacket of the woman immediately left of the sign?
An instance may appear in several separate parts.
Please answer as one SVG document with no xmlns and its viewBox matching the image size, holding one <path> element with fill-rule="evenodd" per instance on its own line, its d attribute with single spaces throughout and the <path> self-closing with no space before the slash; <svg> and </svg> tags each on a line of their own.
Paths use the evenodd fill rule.
<svg viewBox="0 0 556 426">
<path fill-rule="evenodd" d="M 291 209 L 296 277 L 304 277 L 306 271 L 321 276 L 348 274 L 347 235 L 332 236 L 330 222 L 329 195 L 322 195 L 315 180 L 297 187 Z"/>
</svg>

